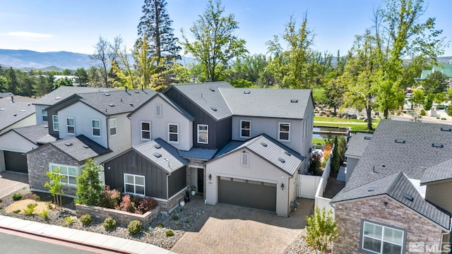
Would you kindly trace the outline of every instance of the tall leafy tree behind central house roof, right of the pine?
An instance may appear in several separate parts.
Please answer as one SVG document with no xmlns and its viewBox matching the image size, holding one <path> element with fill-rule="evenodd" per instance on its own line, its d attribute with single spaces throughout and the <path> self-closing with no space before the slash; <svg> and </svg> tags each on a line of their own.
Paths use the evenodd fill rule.
<svg viewBox="0 0 452 254">
<path fill-rule="evenodd" d="M 239 28 L 234 14 L 225 15 L 224 12 L 225 7 L 221 6 L 220 0 L 209 0 L 206 11 L 190 28 L 194 42 L 189 42 L 184 30 L 181 30 L 184 52 L 192 54 L 203 66 L 210 81 L 224 79 L 229 62 L 247 52 L 245 41 L 233 35 L 234 30 Z"/>
</svg>

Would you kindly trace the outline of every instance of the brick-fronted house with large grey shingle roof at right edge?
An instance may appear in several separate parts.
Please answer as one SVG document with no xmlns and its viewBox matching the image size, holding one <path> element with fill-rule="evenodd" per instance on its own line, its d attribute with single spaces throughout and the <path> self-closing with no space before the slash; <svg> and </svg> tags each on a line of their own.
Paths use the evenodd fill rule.
<svg viewBox="0 0 452 254">
<path fill-rule="evenodd" d="M 333 253 L 409 253 L 419 244 L 438 252 L 450 243 L 452 126 L 382 120 L 371 140 L 358 139 L 348 150 L 364 152 L 331 200 Z"/>
</svg>

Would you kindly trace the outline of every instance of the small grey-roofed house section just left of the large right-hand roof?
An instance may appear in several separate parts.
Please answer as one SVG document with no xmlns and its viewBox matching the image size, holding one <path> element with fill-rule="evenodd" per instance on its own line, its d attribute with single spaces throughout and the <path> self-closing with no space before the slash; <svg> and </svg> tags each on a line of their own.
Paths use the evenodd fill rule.
<svg viewBox="0 0 452 254">
<path fill-rule="evenodd" d="M 372 138 L 371 133 L 356 133 L 352 135 L 347 143 L 347 151 L 345 151 L 345 157 L 347 157 L 347 172 L 345 172 L 345 183 L 355 170 L 356 164 L 359 162 L 364 150 L 366 149 L 369 141 Z"/>
</svg>

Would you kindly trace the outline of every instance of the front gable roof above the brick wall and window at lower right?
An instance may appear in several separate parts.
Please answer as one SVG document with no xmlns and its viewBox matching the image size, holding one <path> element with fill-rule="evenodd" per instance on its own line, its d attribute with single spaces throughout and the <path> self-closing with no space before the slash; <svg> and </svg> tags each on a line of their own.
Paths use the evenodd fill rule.
<svg viewBox="0 0 452 254">
<path fill-rule="evenodd" d="M 448 229 L 451 223 L 451 214 L 425 201 L 403 172 L 389 174 L 386 177 L 366 183 L 350 191 L 340 191 L 331 203 L 354 200 L 357 198 L 370 198 L 378 195 L 388 195 L 414 212 L 421 214 L 430 221 Z M 406 197 L 406 198 L 405 198 Z M 412 200 L 411 200 L 412 198 Z"/>
</svg>

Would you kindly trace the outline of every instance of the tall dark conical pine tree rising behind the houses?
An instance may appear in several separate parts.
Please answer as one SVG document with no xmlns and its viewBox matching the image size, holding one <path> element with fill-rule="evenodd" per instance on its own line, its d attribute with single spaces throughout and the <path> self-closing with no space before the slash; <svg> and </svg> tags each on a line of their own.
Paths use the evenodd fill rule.
<svg viewBox="0 0 452 254">
<path fill-rule="evenodd" d="M 165 0 L 145 0 L 143 17 L 138 24 L 138 37 L 148 38 L 148 52 L 151 54 L 148 58 L 157 56 L 157 65 L 162 58 L 167 61 L 181 59 L 181 47 L 177 46 L 179 39 L 174 37 L 166 5 Z"/>
</svg>

